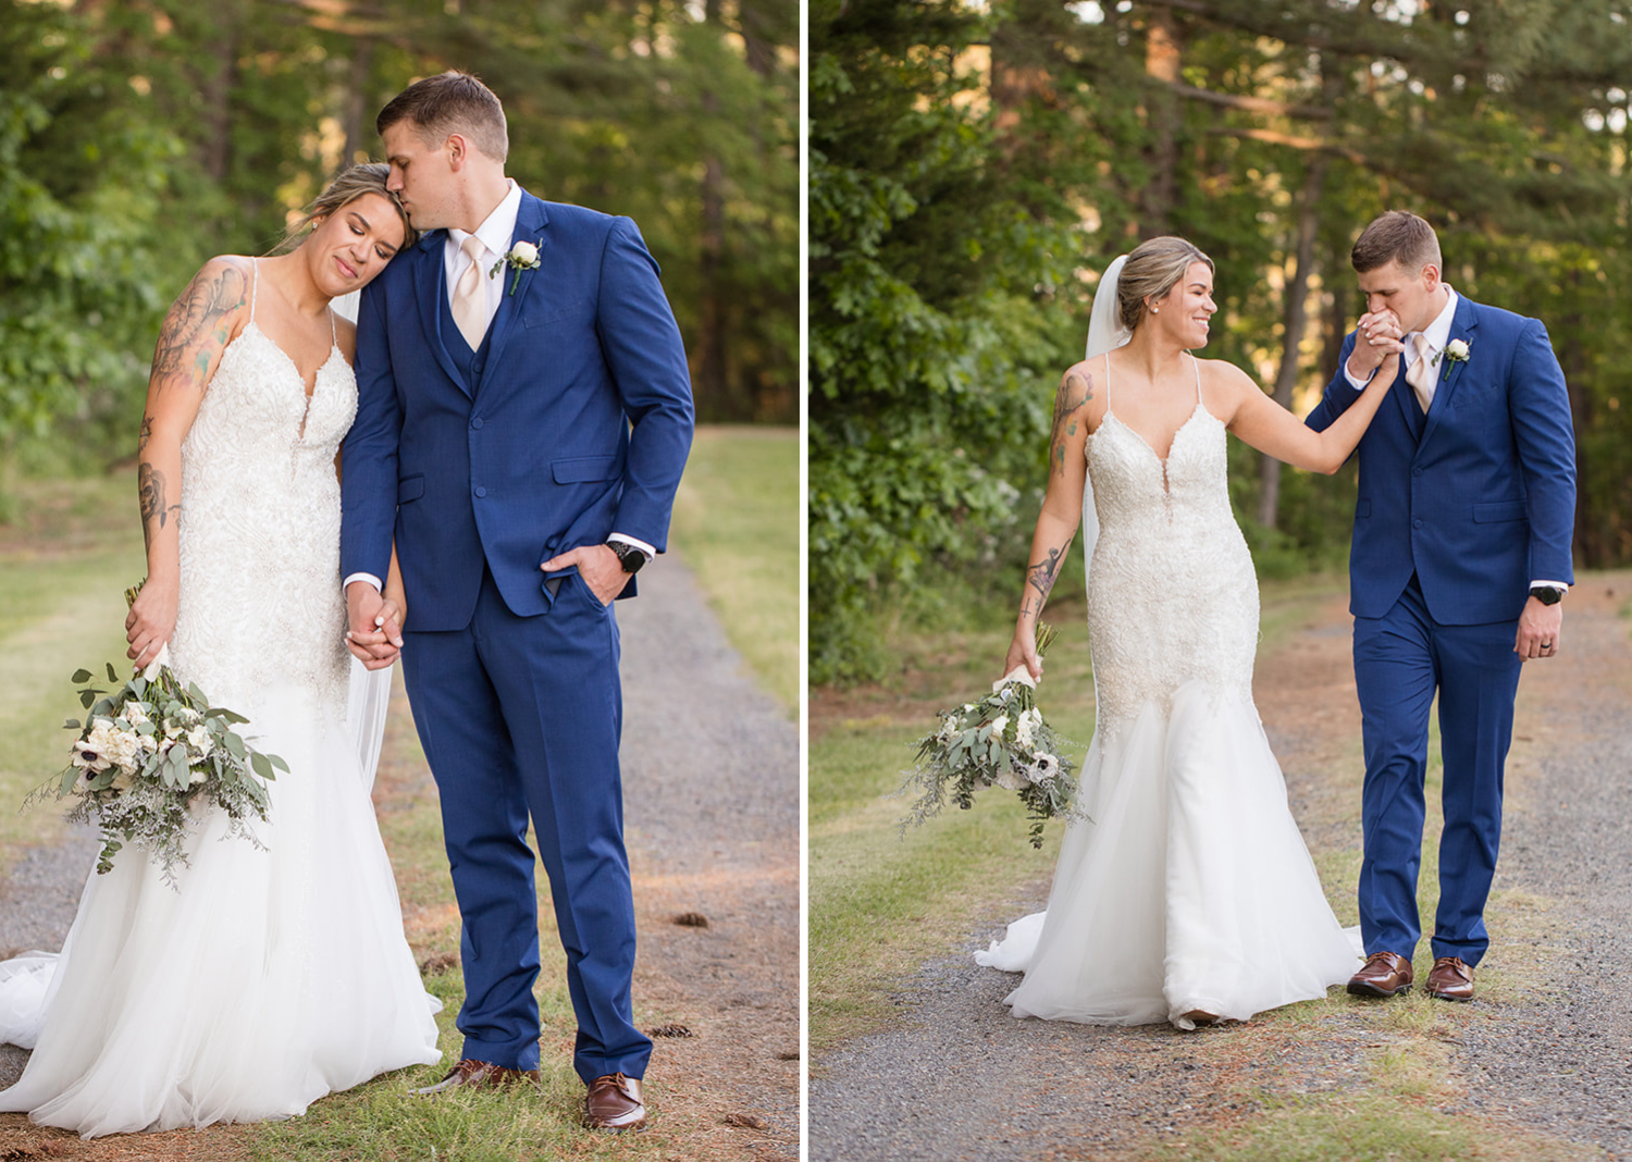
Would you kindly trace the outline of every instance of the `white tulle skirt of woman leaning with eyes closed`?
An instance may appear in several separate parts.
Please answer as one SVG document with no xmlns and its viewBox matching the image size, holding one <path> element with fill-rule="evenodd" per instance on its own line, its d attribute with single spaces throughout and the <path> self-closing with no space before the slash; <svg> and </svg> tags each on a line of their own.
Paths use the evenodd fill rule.
<svg viewBox="0 0 1632 1162">
<path fill-rule="evenodd" d="M 126 847 L 60 958 L 0 966 L 0 1040 L 34 1049 L 0 1111 L 86 1138 L 258 1121 L 441 1058 L 343 710 L 263 692 L 243 730 L 290 767 L 264 850 L 212 813 L 176 891 Z"/>
</svg>

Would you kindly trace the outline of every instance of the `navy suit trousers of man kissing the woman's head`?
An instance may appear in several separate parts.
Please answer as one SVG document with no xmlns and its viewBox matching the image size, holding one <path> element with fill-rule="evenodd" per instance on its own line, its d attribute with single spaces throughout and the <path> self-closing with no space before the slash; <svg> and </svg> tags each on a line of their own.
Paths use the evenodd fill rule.
<svg viewBox="0 0 1632 1162">
<path fill-rule="evenodd" d="M 491 573 L 462 630 L 413 632 L 403 677 L 442 801 L 463 917 L 463 1058 L 539 1067 L 539 924 L 532 819 L 578 1017 L 573 1066 L 589 1082 L 641 1077 L 635 906 L 619 774 L 619 630 L 576 574 L 547 612 L 517 617 Z"/>
</svg>

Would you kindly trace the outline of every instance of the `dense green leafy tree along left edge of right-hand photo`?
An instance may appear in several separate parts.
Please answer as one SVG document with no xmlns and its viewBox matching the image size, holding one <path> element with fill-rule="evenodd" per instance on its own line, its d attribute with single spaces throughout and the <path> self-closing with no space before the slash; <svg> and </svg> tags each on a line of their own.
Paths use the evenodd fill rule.
<svg viewBox="0 0 1632 1162">
<path fill-rule="evenodd" d="M 971 563 L 1041 480 L 1074 240 L 1015 206 L 994 126 L 956 103 L 960 5 L 813 21 L 811 677 L 878 658 L 868 609 L 927 563 Z M 945 52 L 930 52 L 943 46 Z"/>
</svg>

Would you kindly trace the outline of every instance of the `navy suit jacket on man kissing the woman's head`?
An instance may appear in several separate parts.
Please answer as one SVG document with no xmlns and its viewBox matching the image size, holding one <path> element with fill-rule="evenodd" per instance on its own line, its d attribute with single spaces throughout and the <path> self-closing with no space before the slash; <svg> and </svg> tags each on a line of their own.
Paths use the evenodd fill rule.
<svg viewBox="0 0 1632 1162">
<path fill-rule="evenodd" d="M 557 553 L 612 532 L 661 552 L 694 416 L 685 348 L 630 219 L 522 191 L 512 242 L 540 264 L 514 294 L 499 271 L 468 379 L 442 341 L 444 238 L 431 230 L 362 292 L 341 454 L 341 573 L 384 578 L 395 534 L 416 630 L 463 628 L 483 566 L 529 617 L 553 602 L 539 565 Z M 633 591 L 632 578 L 620 596 Z"/>
</svg>

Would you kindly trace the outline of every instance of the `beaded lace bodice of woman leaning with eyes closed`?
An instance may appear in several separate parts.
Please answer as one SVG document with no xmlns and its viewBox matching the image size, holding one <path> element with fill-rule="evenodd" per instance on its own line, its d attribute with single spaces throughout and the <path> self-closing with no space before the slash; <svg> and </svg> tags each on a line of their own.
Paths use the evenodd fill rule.
<svg viewBox="0 0 1632 1162">
<path fill-rule="evenodd" d="M 258 281 L 256 269 L 250 322 L 222 353 L 181 444 L 171 664 L 240 713 L 269 682 L 344 705 L 335 455 L 357 415 L 357 382 L 331 330 L 307 397 L 294 361 L 255 323 Z"/>
</svg>

